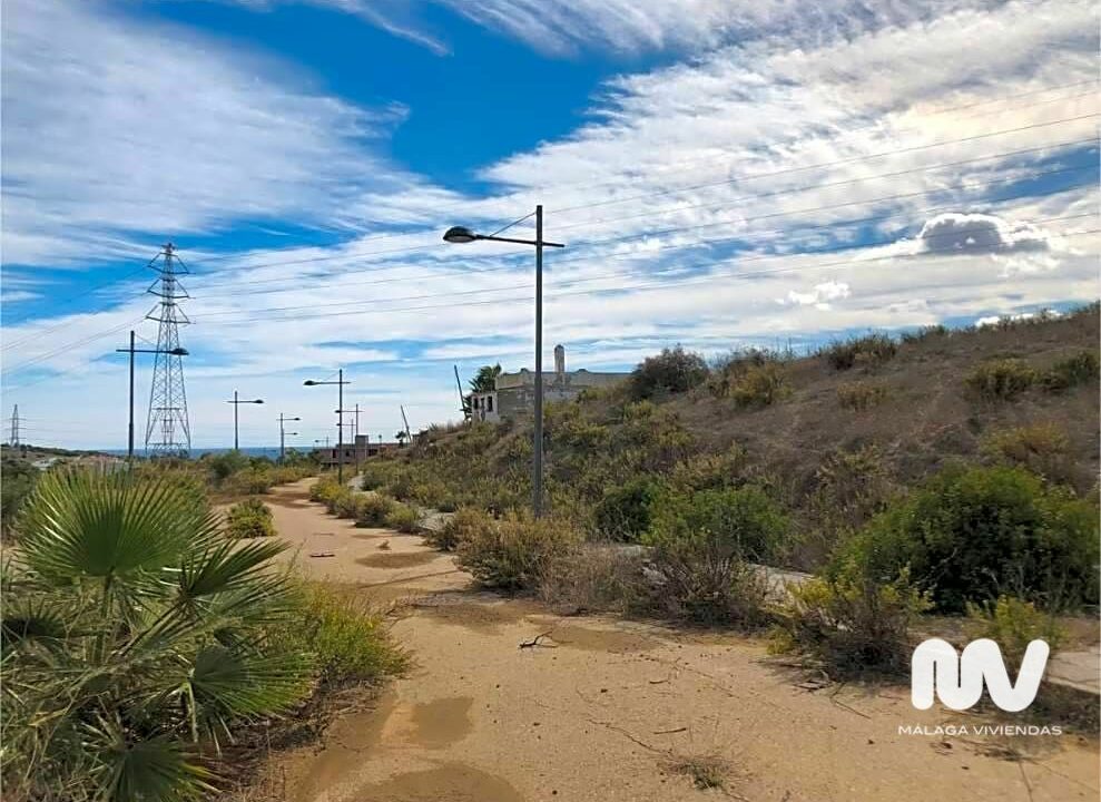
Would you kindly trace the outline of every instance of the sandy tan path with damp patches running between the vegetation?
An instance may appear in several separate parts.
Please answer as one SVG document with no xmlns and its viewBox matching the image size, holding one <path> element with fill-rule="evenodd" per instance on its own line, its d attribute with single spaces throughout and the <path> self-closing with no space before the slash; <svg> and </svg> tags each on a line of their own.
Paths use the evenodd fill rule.
<svg viewBox="0 0 1101 802">
<path fill-rule="evenodd" d="M 273 496 L 281 536 L 309 574 L 404 599 L 393 632 L 416 667 L 321 747 L 279 759 L 296 802 L 1098 799 L 1095 741 L 1016 737 L 1030 756 L 1010 761 L 994 756 L 1004 742 L 900 734 L 982 722 L 915 711 L 907 687 L 800 688 L 758 642 L 478 593 L 419 537 L 328 517 L 307 486 Z M 518 648 L 547 632 L 547 647 Z M 692 757 L 721 760 L 725 788 L 676 771 Z"/>
</svg>

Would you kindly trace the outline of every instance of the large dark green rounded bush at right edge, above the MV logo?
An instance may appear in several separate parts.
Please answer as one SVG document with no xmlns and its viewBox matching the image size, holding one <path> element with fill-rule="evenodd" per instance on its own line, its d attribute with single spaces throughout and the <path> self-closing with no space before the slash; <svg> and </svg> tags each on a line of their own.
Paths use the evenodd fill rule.
<svg viewBox="0 0 1101 802">
<path fill-rule="evenodd" d="M 908 566 L 942 612 L 1003 593 L 1095 603 L 1098 510 L 1022 468 L 951 467 L 873 519 L 841 560 L 881 581 Z"/>
</svg>

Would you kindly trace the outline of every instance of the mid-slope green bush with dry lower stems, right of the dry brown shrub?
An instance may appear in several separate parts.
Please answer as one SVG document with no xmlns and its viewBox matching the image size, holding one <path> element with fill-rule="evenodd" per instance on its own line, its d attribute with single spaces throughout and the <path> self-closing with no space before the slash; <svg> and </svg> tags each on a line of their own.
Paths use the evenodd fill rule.
<svg viewBox="0 0 1101 802">
<path fill-rule="evenodd" d="M 768 580 L 749 560 L 769 558 L 786 529 L 786 517 L 755 487 L 658 500 L 645 542 L 653 547 L 660 602 L 699 623 L 765 624 Z"/>
</svg>

